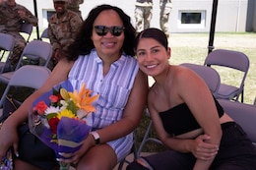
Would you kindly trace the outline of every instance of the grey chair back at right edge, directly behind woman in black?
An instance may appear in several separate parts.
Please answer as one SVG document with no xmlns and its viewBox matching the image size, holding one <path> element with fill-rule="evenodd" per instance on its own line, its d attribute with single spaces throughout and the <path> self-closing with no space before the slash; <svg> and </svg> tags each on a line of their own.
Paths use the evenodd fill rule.
<svg viewBox="0 0 256 170">
<path fill-rule="evenodd" d="M 239 124 L 256 147 L 256 106 L 225 99 L 218 99 L 224 112 Z"/>
</svg>

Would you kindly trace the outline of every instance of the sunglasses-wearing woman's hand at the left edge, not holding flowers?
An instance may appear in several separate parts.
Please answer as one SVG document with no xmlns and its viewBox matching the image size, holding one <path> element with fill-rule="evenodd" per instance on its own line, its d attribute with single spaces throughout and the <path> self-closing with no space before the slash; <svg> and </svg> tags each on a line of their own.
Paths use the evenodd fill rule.
<svg viewBox="0 0 256 170">
<path fill-rule="evenodd" d="M 12 145 L 14 146 L 16 156 L 18 156 L 18 143 L 17 128 L 12 126 L 12 124 L 4 123 L 0 130 L 0 160 L 2 160 L 7 150 Z"/>
</svg>

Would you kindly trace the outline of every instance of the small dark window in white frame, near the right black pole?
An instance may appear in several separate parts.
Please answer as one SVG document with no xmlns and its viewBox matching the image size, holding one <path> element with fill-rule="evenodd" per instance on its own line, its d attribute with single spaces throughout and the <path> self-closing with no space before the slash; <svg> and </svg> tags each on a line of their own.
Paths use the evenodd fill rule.
<svg viewBox="0 0 256 170">
<path fill-rule="evenodd" d="M 206 11 L 179 11 L 178 28 L 205 28 Z"/>
</svg>

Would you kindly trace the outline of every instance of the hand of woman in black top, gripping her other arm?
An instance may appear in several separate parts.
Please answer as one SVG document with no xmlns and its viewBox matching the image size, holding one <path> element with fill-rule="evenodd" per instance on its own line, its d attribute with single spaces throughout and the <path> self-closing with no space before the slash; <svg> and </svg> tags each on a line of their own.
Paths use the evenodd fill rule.
<svg viewBox="0 0 256 170">
<path fill-rule="evenodd" d="M 201 160 L 212 160 L 216 156 L 219 150 L 218 144 L 205 142 L 210 140 L 211 137 L 208 135 L 201 135 L 194 140 L 192 146 L 192 154 Z"/>
</svg>

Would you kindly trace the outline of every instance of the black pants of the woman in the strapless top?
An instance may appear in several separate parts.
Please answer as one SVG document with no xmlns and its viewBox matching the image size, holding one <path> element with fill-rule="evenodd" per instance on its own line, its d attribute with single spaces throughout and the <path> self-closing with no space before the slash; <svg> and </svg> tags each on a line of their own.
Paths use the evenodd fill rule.
<svg viewBox="0 0 256 170">
<path fill-rule="evenodd" d="M 241 127 L 233 122 L 222 125 L 223 138 L 220 150 L 210 170 L 255 170 L 256 150 Z M 155 170 L 191 170 L 196 158 L 191 153 L 167 150 L 145 157 Z M 139 170 L 133 162 L 127 169 Z"/>
</svg>

